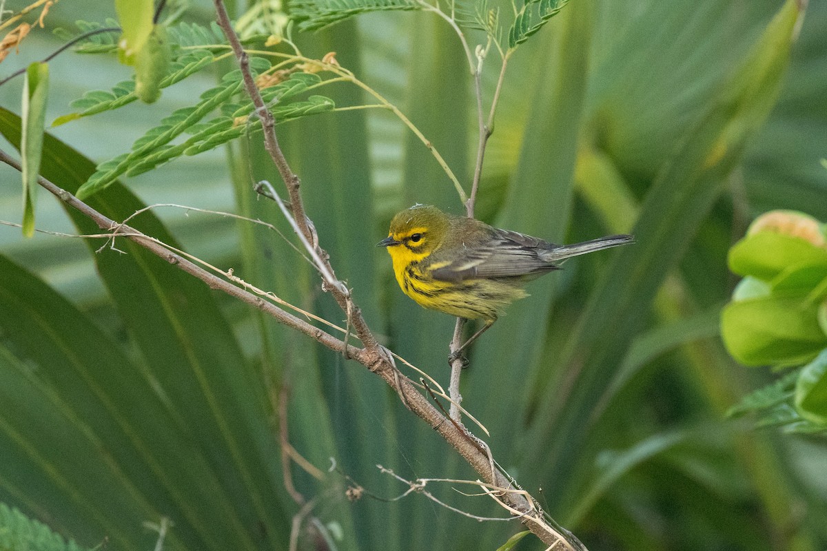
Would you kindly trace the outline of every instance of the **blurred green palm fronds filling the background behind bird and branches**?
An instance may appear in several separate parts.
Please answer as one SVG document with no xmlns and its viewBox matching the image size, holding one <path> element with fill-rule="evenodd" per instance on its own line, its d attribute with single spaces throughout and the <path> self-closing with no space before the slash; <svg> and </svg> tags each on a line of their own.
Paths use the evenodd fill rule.
<svg viewBox="0 0 827 551">
<path fill-rule="evenodd" d="M 509 64 L 477 215 L 557 242 L 618 232 L 638 242 L 532 283 L 532 297 L 472 351 L 463 406 L 490 430 L 500 464 L 592 551 L 827 547 L 823 436 L 724 418 L 776 377 L 737 365 L 720 344 L 719 310 L 736 283 L 729 246 L 769 209 L 827 221 L 827 4 L 807 8 L 776 102 L 787 39 L 759 44 L 783 5 L 576 0 Z M 61 0 L 47 24 L 112 15 L 111 2 Z M 212 2 L 193 2 L 187 17 L 208 23 Z M 469 182 L 474 100 L 444 21 L 368 14 L 299 43 L 313 57 L 337 52 Z M 33 32 L 0 77 L 60 44 Z M 111 57 L 71 52 L 50 71 L 47 121 L 130 75 Z M 102 162 L 194 104 L 217 74 L 52 134 Z M 490 99 L 493 64 L 483 77 Z M 21 88 L 19 78 L 0 88 L 0 105 L 19 114 Z M 342 106 L 366 102 L 354 87 L 329 95 Z M 278 132 L 321 243 L 371 327 L 447 384 L 454 321 L 404 297 L 374 244 L 414 202 L 461 212 L 450 181 L 390 112 L 325 114 Z M 92 170 L 64 145 L 46 145 L 43 173 L 61 186 Z M 253 197 L 251 178 L 279 183 L 261 148 L 237 142 L 127 178 L 92 203 L 115 219 L 154 203 L 234 211 L 288 234 L 275 206 Z M 2 166 L 0 181 L 0 220 L 19 222 L 19 175 Z M 94 230 L 46 195 L 38 228 Z M 342 321 L 278 235 L 222 216 L 154 212 L 135 225 Z M 95 252 L 101 245 L 24 240 L 0 226 L 0 501 L 90 548 L 108 538 L 107 549 L 151 549 L 157 534 L 142 523 L 168 517 L 164 549 L 288 549 L 300 506 L 283 480 L 286 400 L 289 442 L 322 475 L 291 467 L 321 527 L 300 530 L 298 549 L 325 549 L 318 533 L 335 549 L 497 549 L 520 529 L 480 524 L 417 494 L 348 502 L 342 473 L 377 496 L 404 492 L 377 463 L 411 480 L 476 474 L 360 365 L 122 241 L 127 254 Z M 337 471 L 328 472 L 331 458 Z M 451 484 L 428 489 L 463 510 L 504 515 Z M 529 537 L 517 549 L 543 546 Z"/>
</svg>

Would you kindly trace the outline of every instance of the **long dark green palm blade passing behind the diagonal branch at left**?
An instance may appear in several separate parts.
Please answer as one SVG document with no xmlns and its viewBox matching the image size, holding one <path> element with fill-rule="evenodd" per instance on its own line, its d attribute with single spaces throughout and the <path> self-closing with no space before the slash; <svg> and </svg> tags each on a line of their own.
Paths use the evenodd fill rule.
<svg viewBox="0 0 827 551">
<path fill-rule="evenodd" d="M 12 144 L 19 142 L 19 124 L 12 113 L 0 110 L 0 131 Z M 67 145 L 48 134 L 44 144 L 42 173 L 61 188 L 72 192 L 93 173 L 94 164 Z M 92 197 L 89 203 L 112 220 L 123 220 L 145 207 L 117 184 Z M 99 231 L 79 212 L 67 211 L 79 233 Z M 147 234 L 181 248 L 151 212 L 141 214 L 133 223 Z M 91 254 L 99 245 L 88 243 L 88 247 Z M 159 439 L 150 446 L 151 456 L 165 458 L 159 473 L 169 484 L 168 492 L 143 495 L 159 511 L 166 511 L 169 507 L 155 500 L 163 501 L 171 494 L 175 507 L 183 510 L 174 515 L 176 523 L 171 534 L 188 543 L 171 544 L 170 548 L 279 549 L 289 538 L 289 520 L 276 492 L 280 486 L 276 481 L 281 479 L 280 461 L 268 421 L 267 387 L 241 353 L 232 327 L 206 285 L 128 240 L 119 241 L 117 247 L 127 254 L 104 251 L 92 256 L 134 344 L 131 355 L 144 366 L 136 373 L 146 373 L 154 389 L 152 396 L 163 401 L 162 407 L 131 407 L 129 411 L 133 416 L 165 411 L 172 418 L 168 423 L 141 427 L 159 432 Z M 62 365 L 54 363 L 55 369 Z M 117 371 L 117 362 L 110 365 Z M 82 406 L 84 401 L 78 404 Z M 127 407 L 117 401 L 116 405 Z M 108 416 L 92 419 L 103 426 L 111 425 Z M 174 431 L 183 431 L 183 435 L 175 435 Z M 196 454 L 201 467 L 194 469 L 189 463 L 176 461 L 168 455 L 160 437 L 164 441 L 170 438 L 175 449 L 184 448 Z M 49 443 L 48 439 L 45 443 Z M 56 453 L 60 451 L 57 449 Z M 87 482 L 93 480 L 90 477 Z M 136 476 L 136 481 L 143 480 L 145 477 Z M 209 496 L 199 496 L 201 492 Z M 114 494 L 131 499 L 127 492 Z M 93 497 L 89 501 L 95 514 L 108 510 L 107 499 Z M 153 515 L 138 512 L 118 518 L 131 533 L 146 535 L 136 518 L 151 519 Z M 250 530 L 251 525 L 260 526 L 261 530 Z M 134 541 L 119 547 L 147 548 Z"/>
</svg>

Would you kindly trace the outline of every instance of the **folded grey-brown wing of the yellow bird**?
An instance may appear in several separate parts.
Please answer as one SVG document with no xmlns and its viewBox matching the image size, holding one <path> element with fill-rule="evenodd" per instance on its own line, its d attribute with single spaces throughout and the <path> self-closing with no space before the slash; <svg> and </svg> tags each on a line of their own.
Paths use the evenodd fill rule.
<svg viewBox="0 0 827 551">
<path fill-rule="evenodd" d="M 432 277 L 439 281 L 469 278 L 514 278 L 548 272 L 556 266 L 540 259 L 539 252 L 553 245 L 516 231 L 497 230 L 485 243 L 466 247 L 452 259 L 432 265 Z M 452 247 L 463 250 L 462 245 Z"/>
</svg>

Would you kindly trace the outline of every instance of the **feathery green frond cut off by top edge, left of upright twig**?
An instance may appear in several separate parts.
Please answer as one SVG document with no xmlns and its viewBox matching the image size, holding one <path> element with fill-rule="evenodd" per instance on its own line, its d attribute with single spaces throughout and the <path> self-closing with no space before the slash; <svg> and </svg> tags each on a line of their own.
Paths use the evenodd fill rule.
<svg viewBox="0 0 827 551">
<path fill-rule="evenodd" d="M 291 0 L 290 17 L 302 31 L 318 31 L 366 12 L 421 10 L 416 0 Z"/>
</svg>

